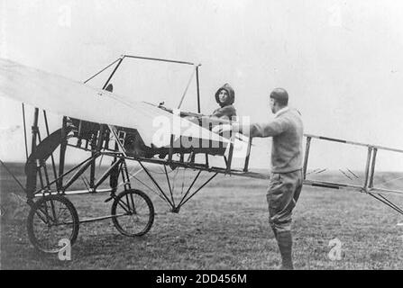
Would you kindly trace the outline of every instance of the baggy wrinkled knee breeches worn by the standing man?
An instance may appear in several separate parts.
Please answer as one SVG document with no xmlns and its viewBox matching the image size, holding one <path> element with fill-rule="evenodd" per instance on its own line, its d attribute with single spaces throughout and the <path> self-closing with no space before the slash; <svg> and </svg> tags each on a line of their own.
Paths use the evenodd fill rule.
<svg viewBox="0 0 403 288">
<path fill-rule="evenodd" d="M 277 231 L 291 229 L 292 210 L 302 189 L 302 170 L 289 173 L 272 173 L 267 192 L 269 222 Z"/>
</svg>

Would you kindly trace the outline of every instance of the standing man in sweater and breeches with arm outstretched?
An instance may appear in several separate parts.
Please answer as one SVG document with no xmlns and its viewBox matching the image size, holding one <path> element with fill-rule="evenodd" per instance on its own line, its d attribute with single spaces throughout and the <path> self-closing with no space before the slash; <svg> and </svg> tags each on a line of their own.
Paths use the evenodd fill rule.
<svg viewBox="0 0 403 288">
<path fill-rule="evenodd" d="M 249 137 L 272 137 L 271 175 L 267 192 L 269 223 L 279 245 L 280 269 L 293 269 L 291 215 L 302 189 L 303 123 L 300 113 L 288 106 L 289 94 L 282 88 L 270 94 L 270 109 L 274 120 L 243 126 L 234 123 L 230 128 Z"/>
</svg>

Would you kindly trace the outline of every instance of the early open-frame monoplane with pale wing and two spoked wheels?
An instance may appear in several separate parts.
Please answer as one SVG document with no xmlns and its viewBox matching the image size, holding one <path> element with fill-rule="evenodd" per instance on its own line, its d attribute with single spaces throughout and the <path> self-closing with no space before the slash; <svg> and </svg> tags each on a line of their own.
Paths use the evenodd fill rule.
<svg viewBox="0 0 403 288">
<path fill-rule="evenodd" d="M 167 108 L 161 104 L 140 102 L 127 98 L 127 95 L 114 94 L 114 85 L 111 82 L 114 73 L 124 60 L 131 58 L 193 66 L 192 77 L 196 75 L 197 80 L 197 112 L 180 112 L 178 109 Z M 114 69 L 102 88 L 96 89 L 87 85 L 88 81 L 108 67 L 114 67 Z M 79 83 L 10 60 L 0 59 L 0 95 L 23 103 L 24 127 L 24 104 L 37 107 L 33 115 L 30 155 L 28 155 L 28 148 L 26 149 L 26 184 L 21 184 L 14 177 L 26 193 L 27 203 L 31 207 L 27 229 L 34 247 L 43 252 L 58 252 L 60 238 L 69 238 L 70 243 L 73 244 L 78 237 L 79 224 L 95 220 L 112 219 L 115 228 L 126 236 L 136 237 L 147 233 L 154 220 L 153 204 L 146 193 L 138 187 L 133 187 L 131 183 L 133 178 L 159 195 L 173 212 L 179 212 L 188 200 L 218 174 L 269 178 L 267 174 L 249 170 L 251 139 L 242 135 L 219 135 L 212 131 L 215 125 L 227 124 L 231 121 L 209 117 L 200 112 L 198 74 L 199 65 L 194 63 L 123 55 L 84 83 Z M 183 102 L 188 85 L 178 108 Z M 43 111 L 46 132 L 46 137 L 43 139 L 41 135 L 44 133 L 43 131 L 41 133 L 39 125 L 40 109 Z M 46 112 L 63 116 L 59 130 L 50 133 Z M 373 183 L 377 151 L 383 149 L 403 153 L 403 150 L 314 135 L 305 135 L 305 137 L 307 146 L 303 167 L 304 184 L 334 189 L 348 188 L 368 193 L 403 214 L 403 210 L 385 196 L 385 193 L 403 194 L 403 191 L 376 188 Z M 307 163 L 312 139 L 367 148 L 363 183 L 338 184 L 307 179 L 309 175 Z M 242 169 L 234 169 L 232 167 L 234 147 L 239 144 L 246 145 L 244 164 Z M 65 172 L 67 148 L 87 151 L 89 156 Z M 59 156 L 59 167 L 56 166 L 56 155 Z M 200 161 L 200 156 L 203 161 Z M 110 157 L 112 163 L 105 173 L 96 178 L 96 160 L 102 160 L 103 157 Z M 223 157 L 224 167 L 212 166 L 209 157 Z M 135 173 L 130 172 L 126 166 L 126 160 L 138 162 L 139 170 Z M 3 162 L 1 163 L 5 166 Z M 162 189 L 157 178 L 153 176 L 151 165 L 163 167 L 168 191 Z M 7 169 L 6 166 L 5 168 Z M 83 177 L 88 169 L 90 170 L 89 180 Z M 177 169 L 177 172 L 179 169 L 197 171 L 197 175 L 187 185 L 186 192 L 182 191 L 179 196 L 174 195 L 174 184 L 171 183 L 172 179 L 169 180 L 169 173 L 174 169 Z M 155 189 L 144 184 L 136 176 L 142 171 L 149 176 Z M 202 179 L 202 183 L 196 188 L 195 184 L 197 179 L 201 179 L 199 176 L 202 172 L 212 173 L 212 175 Z M 312 173 L 318 172 L 314 170 Z M 354 175 L 352 171 L 350 173 Z M 68 176 L 69 179 L 65 181 Z M 101 184 L 108 178 L 110 189 L 100 189 Z M 69 189 L 72 184 L 78 182 L 78 179 L 83 179 L 86 189 L 75 191 Z M 122 180 L 120 184 L 119 179 Z M 117 193 L 119 189 L 122 191 Z M 78 212 L 68 196 L 101 192 L 109 193 L 106 202 L 113 200 L 111 213 L 102 217 L 79 220 Z"/>
</svg>

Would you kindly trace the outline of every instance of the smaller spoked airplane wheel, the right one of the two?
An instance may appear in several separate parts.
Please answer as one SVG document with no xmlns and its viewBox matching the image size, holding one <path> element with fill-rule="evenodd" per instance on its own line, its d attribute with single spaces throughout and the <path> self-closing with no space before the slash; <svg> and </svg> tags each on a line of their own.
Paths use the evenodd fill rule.
<svg viewBox="0 0 403 288">
<path fill-rule="evenodd" d="M 126 190 L 119 193 L 112 204 L 114 227 L 125 236 L 147 233 L 154 222 L 154 206 L 146 193 Z"/>
</svg>

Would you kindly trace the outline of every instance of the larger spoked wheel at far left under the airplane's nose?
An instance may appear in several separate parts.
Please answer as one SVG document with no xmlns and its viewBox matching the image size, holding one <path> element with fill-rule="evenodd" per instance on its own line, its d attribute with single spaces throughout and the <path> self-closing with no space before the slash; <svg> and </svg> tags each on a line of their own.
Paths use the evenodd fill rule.
<svg viewBox="0 0 403 288">
<path fill-rule="evenodd" d="M 28 215 L 28 237 L 34 247 L 45 253 L 58 253 L 69 239 L 72 246 L 78 236 L 78 213 L 69 199 L 61 195 L 42 197 Z"/>
</svg>

